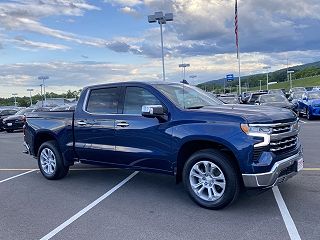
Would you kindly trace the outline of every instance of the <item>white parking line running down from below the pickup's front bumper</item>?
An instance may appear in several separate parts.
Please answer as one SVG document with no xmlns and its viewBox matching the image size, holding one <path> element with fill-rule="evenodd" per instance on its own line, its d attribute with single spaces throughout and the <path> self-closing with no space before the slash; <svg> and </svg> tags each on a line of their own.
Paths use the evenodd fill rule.
<svg viewBox="0 0 320 240">
<path fill-rule="evenodd" d="M 289 213 L 289 210 L 286 206 L 286 203 L 284 202 L 280 190 L 277 186 L 272 188 L 274 198 L 277 201 L 279 210 L 281 212 L 281 216 L 283 218 L 284 224 L 286 225 L 287 231 L 289 233 L 291 240 L 301 240 L 301 237 L 299 235 L 299 232 L 296 228 L 296 225 L 294 224 L 292 217 Z"/>
</svg>

